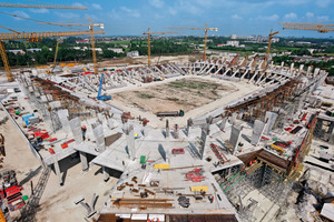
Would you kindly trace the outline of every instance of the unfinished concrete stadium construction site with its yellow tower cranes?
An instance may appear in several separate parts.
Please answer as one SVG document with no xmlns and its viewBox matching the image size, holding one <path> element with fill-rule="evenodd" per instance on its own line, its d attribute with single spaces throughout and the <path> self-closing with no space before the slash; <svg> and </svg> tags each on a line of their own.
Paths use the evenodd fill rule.
<svg viewBox="0 0 334 222">
<path fill-rule="evenodd" d="M 278 32 L 264 56 L 207 56 L 206 24 L 195 62 L 151 60 L 151 34 L 173 32 L 149 29 L 145 64 L 6 62 L 12 39 L 89 34 L 94 49 L 102 24 L 88 27 L 0 34 L 0 221 L 333 221 L 334 87 L 275 65 Z"/>
</svg>

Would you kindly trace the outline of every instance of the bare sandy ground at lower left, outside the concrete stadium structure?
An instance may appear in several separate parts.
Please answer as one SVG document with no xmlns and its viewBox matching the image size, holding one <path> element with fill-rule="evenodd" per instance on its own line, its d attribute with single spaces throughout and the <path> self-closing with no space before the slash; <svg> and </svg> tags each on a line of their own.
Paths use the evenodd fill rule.
<svg viewBox="0 0 334 222">
<path fill-rule="evenodd" d="M 0 111 L 0 117 L 4 112 Z M 2 119 L 2 118 L 1 118 Z M 17 128 L 8 120 L 0 125 L 0 133 L 4 135 L 4 148 L 7 157 L 3 161 L 6 170 L 16 170 L 19 183 L 23 183 L 23 195 L 31 195 L 31 181 L 33 186 L 38 184 L 42 173 L 42 168 L 35 159 L 28 148 L 26 141 L 19 134 Z M 88 172 L 81 171 L 79 159 L 65 159 L 61 161 L 62 176 L 65 184 L 59 186 L 58 179 L 55 172 L 51 171 L 48 183 L 45 188 L 42 196 L 37 208 L 35 221 L 37 222 L 58 222 L 58 221 L 86 221 L 86 210 L 79 204 L 76 205 L 73 200 L 79 196 L 85 198 L 85 202 L 90 203 L 91 196 L 96 193 L 97 200 L 96 210 L 99 210 L 107 200 L 110 190 L 114 188 L 118 179 L 110 178 L 108 182 L 104 182 L 101 168 L 94 165 Z M 63 167 L 69 167 L 65 170 Z M 12 219 L 20 216 L 20 212 L 16 211 Z"/>
</svg>

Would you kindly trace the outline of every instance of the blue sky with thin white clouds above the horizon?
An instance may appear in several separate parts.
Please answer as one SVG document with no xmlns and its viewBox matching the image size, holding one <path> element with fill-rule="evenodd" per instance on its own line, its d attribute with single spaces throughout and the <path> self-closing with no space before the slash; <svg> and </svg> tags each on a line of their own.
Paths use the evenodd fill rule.
<svg viewBox="0 0 334 222">
<path fill-rule="evenodd" d="M 9 3 L 38 3 L 32 0 L 7 0 Z M 166 31 L 165 27 L 218 28 L 215 36 L 259 34 L 267 36 L 271 29 L 279 30 L 278 37 L 330 37 L 315 31 L 282 30 L 278 22 L 334 23 L 334 0 L 42 0 L 58 4 L 82 4 L 89 10 L 19 9 L 0 8 L 47 22 L 86 23 L 90 17 L 105 24 L 107 36 L 140 36 L 147 28 Z M 53 26 L 1 14 L 1 26 L 17 31 L 69 30 Z M 82 28 L 81 28 L 82 29 Z M 2 32 L 8 32 L 2 29 Z M 183 31 L 183 34 L 202 36 L 203 31 Z"/>
</svg>

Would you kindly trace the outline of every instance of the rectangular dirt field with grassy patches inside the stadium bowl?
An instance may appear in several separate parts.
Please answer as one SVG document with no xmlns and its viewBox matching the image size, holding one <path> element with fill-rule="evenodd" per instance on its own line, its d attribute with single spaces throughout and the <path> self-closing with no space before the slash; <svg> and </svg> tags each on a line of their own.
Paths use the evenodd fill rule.
<svg viewBox="0 0 334 222">
<path fill-rule="evenodd" d="M 166 84 L 112 94 L 114 100 L 131 103 L 151 113 L 188 112 L 210 103 L 237 89 L 203 79 L 181 79 Z"/>
</svg>

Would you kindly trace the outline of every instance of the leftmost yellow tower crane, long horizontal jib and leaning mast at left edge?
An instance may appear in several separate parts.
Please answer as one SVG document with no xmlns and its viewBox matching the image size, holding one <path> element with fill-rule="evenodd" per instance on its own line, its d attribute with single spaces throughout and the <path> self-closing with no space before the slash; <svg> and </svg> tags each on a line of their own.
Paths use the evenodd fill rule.
<svg viewBox="0 0 334 222">
<path fill-rule="evenodd" d="M 102 30 L 97 31 L 50 31 L 50 32 L 14 32 L 14 33 L 0 33 L 0 54 L 3 61 L 3 67 L 8 81 L 13 81 L 11 75 L 10 65 L 8 62 L 6 49 L 3 47 L 3 40 L 13 40 L 13 39 L 23 39 L 28 41 L 39 41 L 42 38 L 52 38 L 52 37 L 72 37 L 72 36 L 85 36 L 85 34 L 104 34 Z"/>
</svg>

